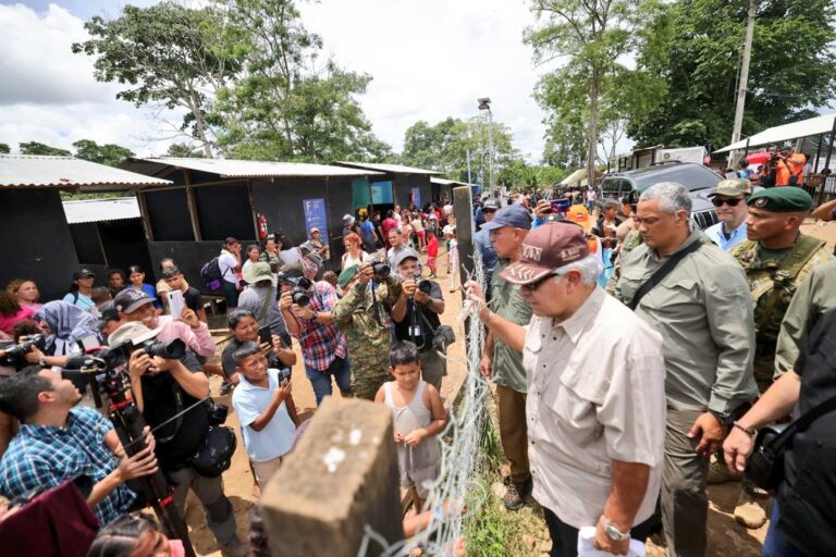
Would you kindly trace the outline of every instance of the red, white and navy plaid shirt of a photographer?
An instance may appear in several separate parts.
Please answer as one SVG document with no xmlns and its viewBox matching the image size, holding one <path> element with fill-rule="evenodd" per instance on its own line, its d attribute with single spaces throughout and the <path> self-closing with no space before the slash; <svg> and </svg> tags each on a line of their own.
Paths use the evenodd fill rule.
<svg viewBox="0 0 836 557">
<path fill-rule="evenodd" d="M 324 281 L 314 283 L 310 293 L 310 309 L 314 311 L 331 311 L 340 298 L 336 290 Z M 334 325 L 323 325 L 296 317 L 299 322 L 299 345 L 305 366 L 319 371 L 325 371 L 334 358 L 345 358 L 345 335 Z"/>
</svg>

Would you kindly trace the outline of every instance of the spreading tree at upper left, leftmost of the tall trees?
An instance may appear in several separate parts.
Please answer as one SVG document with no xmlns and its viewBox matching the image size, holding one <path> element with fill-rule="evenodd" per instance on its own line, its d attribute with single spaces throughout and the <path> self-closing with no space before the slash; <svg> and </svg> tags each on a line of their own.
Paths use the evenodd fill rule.
<svg viewBox="0 0 836 557">
<path fill-rule="evenodd" d="M 95 76 L 127 87 L 116 98 L 167 109 L 185 110 L 173 135 L 197 139 L 212 156 L 211 101 L 235 71 L 233 57 L 223 55 L 221 14 L 165 1 L 149 8 L 126 5 L 122 16 L 85 23 L 93 38 L 73 45 L 73 52 L 96 57 Z M 224 52 L 225 54 L 226 52 Z"/>
</svg>

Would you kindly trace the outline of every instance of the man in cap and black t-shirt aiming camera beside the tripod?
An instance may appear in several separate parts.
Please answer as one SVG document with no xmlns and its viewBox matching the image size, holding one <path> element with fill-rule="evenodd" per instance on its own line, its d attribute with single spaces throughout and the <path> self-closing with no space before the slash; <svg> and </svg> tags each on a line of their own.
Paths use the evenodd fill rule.
<svg viewBox="0 0 836 557">
<path fill-rule="evenodd" d="M 206 327 L 195 312 L 186 308 L 182 321 L 168 321 L 161 329 L 152 331 L 146 323 L 157 323 L 158 320 L 150 298 L 144 292 L 123 290 L 114 301 L 122 325 L 110 335 L 111 347 L 126 341 L 136 345 L 155 337 L 162 343 L 177 338 L 190 346 L 189 335 L 194 337 L 196 331 Z M 186 350 L 177 360 L 151 358 L 144 350 L 135 350 L 128 360 L 128 371 L 134 400 L 146 422 L 156 428 L 174 418 L 157 432 L 157 457 L 162 471 L 176 485 L 174 503 L 181 515 L 185 516 L 190 487 L 204 504 L 206 522 L 218 544 L 230 554 L 244 555 L 235 534 L 232 504 L 223 493 L 221 478 L 202 475 L 190 463 L 190 457 L 200 447 L 210 426 L 209 406 L 198 404 L 209 396 L 209 380 L 196 355 Z M 192 409 L 179 416 L 187 408 Z"/>
</svg>

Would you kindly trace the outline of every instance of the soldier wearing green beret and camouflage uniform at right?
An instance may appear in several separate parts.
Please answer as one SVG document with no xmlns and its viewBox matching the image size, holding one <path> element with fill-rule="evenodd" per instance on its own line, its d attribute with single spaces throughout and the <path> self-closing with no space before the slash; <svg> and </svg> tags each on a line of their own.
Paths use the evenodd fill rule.
<svg viewBox="0 0 836 557">
<path fill-rule="evenodd" d="M 754 193 L 749 198 L 747 239 L 735 246 L 735 257 L 749 281 L 754 304 L 754 380 L 763 394 L 776 375 L 775 348 L 780 323 L 789 302 L 804 277 L 817 264 L 832 260 L 825 243 L 799 232 L 810 214 L 813 199 L 801 188 L 776 187 Z M 712 463 L 712 480 L 722 481 Z M 753 497 L 757 490 L 743 483 L 735 519 L 747 528 L 760 528 L 766 521 L 762 500 Z"/>
</svg>

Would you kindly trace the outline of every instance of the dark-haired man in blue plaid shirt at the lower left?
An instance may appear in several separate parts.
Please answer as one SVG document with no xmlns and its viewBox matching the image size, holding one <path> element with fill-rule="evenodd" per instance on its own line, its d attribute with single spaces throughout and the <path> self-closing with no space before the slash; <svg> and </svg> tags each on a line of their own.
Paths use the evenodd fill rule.
<svg viewBox="0 0 836 557">
<path fill-rule="evenodd" d="M 89 408 L 59 372 L 30 366 L 0 382 L 0 410 L 21 421 L 0 460 L 0 492 L 9 498 L 48 490 L 78 475 L 95 482 L 87 496 L 101 524 L 128 511 L 136 494 L 125 482 L 157 471 L 155 438 L 126 458 L 113 425 Z"/>
</svg>

